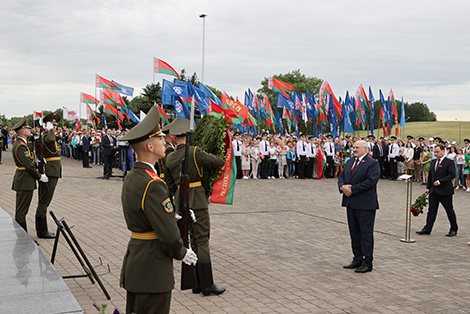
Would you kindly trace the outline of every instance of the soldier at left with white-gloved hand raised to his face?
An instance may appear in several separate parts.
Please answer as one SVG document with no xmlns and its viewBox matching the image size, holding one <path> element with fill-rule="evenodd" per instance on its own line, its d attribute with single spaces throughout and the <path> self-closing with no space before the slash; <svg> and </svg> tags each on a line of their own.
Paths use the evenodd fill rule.
<svg viewBox="0 0 470 314">
<path fill-rule="evenodd" d="M 62 165 L 60 162 L 60 148 L 57 143 L 55 132 L 60 116 L 57 113 L 50 113 L 43 119 L 45 131 L 39 137 L 39 145 L 42 146 L 43 158 L 46 161 L 45 174 L 49 178 L 47 184 L 39 184 L 39 200 L 36 209 L 36 233 L 38 238 L 54 239 L 55 234 L 47 229 L 47 208 L 51 204 L 54 191 L 59 178 L 62 177 Z"/>
</svg>

